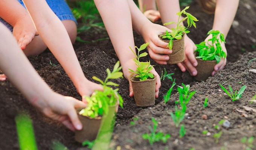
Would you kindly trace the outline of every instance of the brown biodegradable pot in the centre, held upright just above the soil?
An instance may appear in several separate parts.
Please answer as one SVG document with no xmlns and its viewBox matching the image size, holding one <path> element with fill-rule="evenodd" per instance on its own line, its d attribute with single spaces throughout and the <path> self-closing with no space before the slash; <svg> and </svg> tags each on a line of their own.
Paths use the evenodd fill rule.
<svg viewBox="0 0 256 150">
<path fill-rule="evenodd" d="M 153 79 L 140 81 L 139 78 L 131 77 L 131 85 L 136 105 L 140 107 L 155 105 L 155 83 L 156 76 Z"/>
</svg>

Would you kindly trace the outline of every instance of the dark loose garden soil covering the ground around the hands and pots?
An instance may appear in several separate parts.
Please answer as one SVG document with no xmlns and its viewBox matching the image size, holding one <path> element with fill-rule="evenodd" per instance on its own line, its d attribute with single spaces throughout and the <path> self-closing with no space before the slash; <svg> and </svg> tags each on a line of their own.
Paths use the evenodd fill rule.
<svg viewBox="0 0 256 150">
<path fill-rule="evenodd" d="M 249 6 L 250 9 L 248 9 Z M 189 37 L 195 43 L 200 43 L 206 37 L 207 31 L 211 29 L 214 15 L 204 13 L 197 2 L 193 2 L 190 5 L 189 12 L 200 20 L 196 29 L 190 29 Z M 187 115 L 182 122 L 187 129 L 183 138 L 178 138 L 179 128 L 174 126 L 170 116 L 170 112 L 174 111 L 174 101 L 178 100 L 176 87 L 168 104 L 164 105 L 163 103 L 163 95 L 171 87 L 171 81 L 168 79 L 162 81 L 159 98 L 156 99 L 154 107 L 141 108 L 136 106 L 134 98 L 128 96 L 128 81 L 125 79 L 118 80 L 117 82 L 120 84 L 119 93 L 124 99 L 124 104 L 123 109 L 119 108 L 117 113 L 116 127 L 113 133 L 114 145 L 128 150 L 189 150 L 192 147 L 196 150 L 215 150 L 221 149 L 221 147 L 232 150 L 245 149 L 245 145 L 241 144 L 240 139 L 243 136 L 256 137 L 255 112 L 246 112 L 248 116 L 245 118 L 236 110 L 244 110 L 243 106 L 256 107 L 255 103 L 250 104 L 248 102 L 256 92 L 256 74 L 248 72 L 249 69 L 256 67 L 256 61 L 248 64 L 249 60 L 256 57 L 255 16 L 256 3 L 253 0 L 241 0 L 235 17 L 239 26 L 232 26 L 226 39 L 227 65 L 223 71 L 214 77 L 210 77 L 206 82 L 196 82 L 187 72 L 182 73 L 176 65 L 158 65 L 151 60 L 158 74 L 161 75 L 163 68 L 166 68 L 168 73 L 175 73 L 173 78 L 176 78 L 177 85 L 181 85 L 181 83 L 190 84 L 191 90 L 197 90 L 187 106 Z M 97 35 L 99 36 L 97 37 Z M 98 38 L 108 37 L 105 31 L 98 29 L 80 33 L 78 36 L 89 41 L 97 41 Z M 134 33 L 134 40 L 136 45 L 143 43 L 142 37 L 136 33 Z M 99 78 L 105 78 L 107 76 L 105 70 L 107 68 L 113 69 L 118 60 L 109 39 L 91 43 L 76 42 L 74 47 L 84 74 L 89 80 L 92 80 L 91 77 L 94 75 Z M 146 57 L 146 59 L 150 58 Z M 29 57 L 29 60 L 55 92 L 81 99 L 71 80 L 51 52 L 46 51 L 37 57 Z M 50 61 L 56 66 L 50 65 Z M 232 102 L 219 87 L 219 83 L 222 84 L 224 82 L 226 82 L 223 84 L 224 87 L 227 88 L 228 84 L 230 84 L 235 90 L 239 90 L 243 85 L 246 85 L 242 98 Z M 70 150 L 82 149 L 81 144 L 75 142 L 72 131 L 66 129 L 61 123 L 44 117 L 43 114 L 26 101 L 8 79 L 1 81 L 0 85 L 1 150 L 19 149 L 14 121 L 15 115 L 19 111 L 26 111 L 30 114 L 39 150 L 50 149 L 54 140 L 66 145 Z M 203 101 L 206 97 L 209 99 L 209 106 L 203 109 Z M 207 115 L 207 120 L 203 119 L 202 115 Z M 134 116 L 139 117 L 139 120 L 134 126 L 131 126 L 130 121 Z M 158 142 L 151 146 L 148 141 L 142 139 L 142 134 L 148 133 L 148 126 L 152 125 L 151 117 L 159 121 L 157 131 L 171 135 L 166 144 Z M 221 127 L 220 130 L 216 130 L 213 124 L 218 124 L 221 119 L 229 120 L 231 126 L 229 128 Z M 203 130 L 209 130 L 211 135 L 203 135 Z M 213 134 L 219 131 L 222 131 L 223 134 L 219 139 L 219 143 L 216 144 Z M 255 142 L 254 147 L 256 147 Z"/>
</svg>

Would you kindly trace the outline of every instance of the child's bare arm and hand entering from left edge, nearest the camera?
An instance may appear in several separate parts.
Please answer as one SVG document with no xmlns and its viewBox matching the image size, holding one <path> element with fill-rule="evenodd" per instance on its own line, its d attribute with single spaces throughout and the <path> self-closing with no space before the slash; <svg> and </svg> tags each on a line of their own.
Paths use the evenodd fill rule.
<svg viewBox="0 0 256 150">
<path fill-rule="evenodd" d="M 0 69 L 8 79 L 47 117 L 61 121 L 71 130 L 81 130 L 82 125 L 75 108 L 84 108 L 86 105 L 75 98 L 53 92 L 37 74 L 8 29 L 1 23 L 0 35 Z"/>
</svg>

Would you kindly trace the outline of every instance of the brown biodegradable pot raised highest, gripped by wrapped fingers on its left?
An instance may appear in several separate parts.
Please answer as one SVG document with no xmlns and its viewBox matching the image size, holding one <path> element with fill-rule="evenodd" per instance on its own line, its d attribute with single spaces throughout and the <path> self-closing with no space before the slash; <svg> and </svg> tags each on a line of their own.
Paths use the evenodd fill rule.
<svg viewBox="0 0 256 150">
<path fill-rule="evenodd" d="M 165 33 L 163 33 L 163 34 L 165 34 Z M 183 36 L 181 39 L 172 41 L 172 54 L 167 54 L 170 57 L 170 59 L 167 60 L 167 63 L 176 64 L 176 63 L 183 62 L 183 60 L 185 59 L 184 36 L 185 36 L 185 33 L 183 33 Z M 160 40 L 167 42 L 167 43 L 169 43 L 169 41 L 170 41 L 168 39 L 162 39 L 161 35 L 159 35 L 159 38 L 160 38 Z"/>
</svg>

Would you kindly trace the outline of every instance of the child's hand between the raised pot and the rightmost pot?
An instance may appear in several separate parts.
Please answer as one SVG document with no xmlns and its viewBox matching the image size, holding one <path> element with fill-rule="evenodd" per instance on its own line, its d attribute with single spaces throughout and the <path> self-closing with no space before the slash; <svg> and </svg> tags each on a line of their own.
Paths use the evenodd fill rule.
<svg viewBox="0 0 256 150">
<path fill-rule="evenodd" d="M 198 65 L 197 60 L 195 59 L 194 51 L 197 48 L 195 43 L 187 36 L 184 37 L 185 42 L 185 59 L 181 63 L 177 63 L 178 67 L 182 72 L 186 70 L 191 76 L 197 75 L 197 69 L 195 67 Z"/>
</svg>

